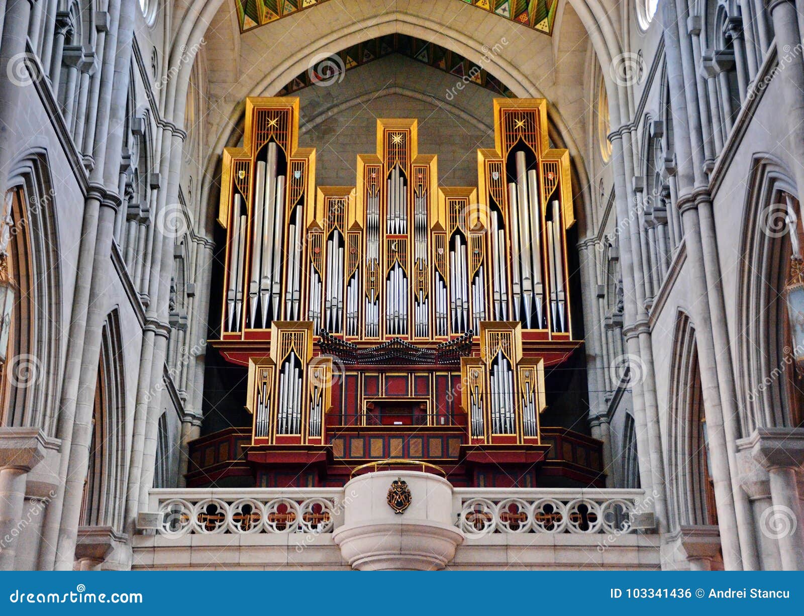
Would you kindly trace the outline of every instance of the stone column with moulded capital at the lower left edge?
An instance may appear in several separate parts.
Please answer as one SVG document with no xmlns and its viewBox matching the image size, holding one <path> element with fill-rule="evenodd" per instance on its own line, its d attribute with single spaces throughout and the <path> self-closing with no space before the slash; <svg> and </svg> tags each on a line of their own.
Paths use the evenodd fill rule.
<svg viewBox="0 0 804 616">
<path fill-rule="evenodd" d="M 39 429 L 0 428 L 0 571 L 14 569 L 27 474 L 45 457 L 46 446 Z"/>
</svg>

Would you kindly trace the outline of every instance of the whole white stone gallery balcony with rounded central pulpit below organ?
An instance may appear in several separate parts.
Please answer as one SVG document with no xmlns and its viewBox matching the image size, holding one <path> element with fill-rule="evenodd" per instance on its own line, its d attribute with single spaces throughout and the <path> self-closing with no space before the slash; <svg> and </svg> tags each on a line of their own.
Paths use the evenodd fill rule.
<svg viewBox="0 0 804 616">
<path fill-rule="evenodd" d="M 640 490 L 453 488 L 421 466 L 378 468 L 342 488 L 152 490 L 133 568 L 659 567 L 658 535 L 638 528 L 652 508 Z M 386 503 L 395 482 L 409 491 L 401 514 Z M 392 556 L 363 541 L 379 527 L 401 533 Z M 430 535 L 425 556 L 406 554 Z"/>
</svg>

